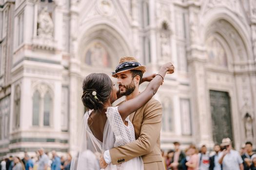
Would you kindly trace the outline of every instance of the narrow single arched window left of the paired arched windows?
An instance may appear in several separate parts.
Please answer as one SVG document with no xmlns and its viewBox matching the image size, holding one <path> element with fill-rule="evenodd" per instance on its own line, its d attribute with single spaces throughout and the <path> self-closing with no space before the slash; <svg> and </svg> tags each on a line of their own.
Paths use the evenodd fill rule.
<svg viewBox="0 0 256 170">
<path fill-rule="evenodd" d="M 20 127 L 20 86 L 18 85 L 14 93 L 14 129 Z"/>
</svg>

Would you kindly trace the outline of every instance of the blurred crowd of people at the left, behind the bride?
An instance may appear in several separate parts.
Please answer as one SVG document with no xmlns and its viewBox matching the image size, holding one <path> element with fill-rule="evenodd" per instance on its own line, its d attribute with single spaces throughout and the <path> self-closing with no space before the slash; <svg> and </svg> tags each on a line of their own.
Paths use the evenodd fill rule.
<svg viewBox="0 0 256 170">
<path fill-rule="evenodd" d="M 0 170 L 70 170 L 72 156 L 67 153 L 66 156 L 59 157 L 55 151 L 45 153 L 44 149 L 39 149 L 36 156 L 30 157 L 24 153 L 21 159 L 19 156 L 5 157 L 0 161 Z"/>
</svg>

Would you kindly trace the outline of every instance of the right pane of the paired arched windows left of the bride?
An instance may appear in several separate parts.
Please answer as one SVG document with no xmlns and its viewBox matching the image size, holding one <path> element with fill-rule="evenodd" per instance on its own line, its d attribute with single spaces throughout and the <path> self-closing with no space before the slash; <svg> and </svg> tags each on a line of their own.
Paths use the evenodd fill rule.
<svg viewBox="0 0 256 170">
<path fill-rule="evenodd" d="M 51 116 L 51 110 L 52 110 L 52 97 L 49 94 L 49 92 L 47 92 L 44 95 L 44 99 L 43 99 L 43 125 L 44 126 L 50 126 L 50 116 Z"/>
</svg>

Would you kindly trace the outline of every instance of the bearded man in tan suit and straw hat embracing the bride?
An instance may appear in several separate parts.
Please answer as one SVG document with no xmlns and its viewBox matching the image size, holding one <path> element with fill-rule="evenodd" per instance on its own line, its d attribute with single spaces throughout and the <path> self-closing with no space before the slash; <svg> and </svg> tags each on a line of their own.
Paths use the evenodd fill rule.
<svg viewBox="0 0 256 170">
<path fill-rule="evenodd" d="M 119 93 L 125 96 L 125 101 L 135 98 L 138 94 L 139 81 L 145 72 L 134 57 L 122 57 L 112 76 L 118 79 Z M 123 102 L 125 102 L 123 101 Z M 160 151 L 160 130 L 162 106 L 160 102 L 151 99 L 129 117 L 134 125 L 136 140 L 104 152 L 100 159 L 101 168 L 107 164 L 116 165 L 132 158 L 141 156 L 144 170 L 164 170 Z"/>
</svg>

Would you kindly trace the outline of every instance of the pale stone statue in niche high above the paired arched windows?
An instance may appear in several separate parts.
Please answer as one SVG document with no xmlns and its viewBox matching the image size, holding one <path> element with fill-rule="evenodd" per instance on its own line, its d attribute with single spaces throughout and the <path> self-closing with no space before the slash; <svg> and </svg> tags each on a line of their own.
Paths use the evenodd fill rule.
<svg viewBox="0 0 256 170">
<path fill-rule="evenodd" d="M 54 24 L 47 7 L 43 7 L 38 17 L 38 36 L 40 38 L 53 38 Z"/>
</svg>

